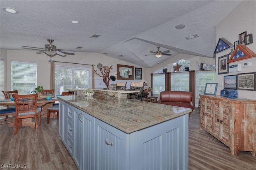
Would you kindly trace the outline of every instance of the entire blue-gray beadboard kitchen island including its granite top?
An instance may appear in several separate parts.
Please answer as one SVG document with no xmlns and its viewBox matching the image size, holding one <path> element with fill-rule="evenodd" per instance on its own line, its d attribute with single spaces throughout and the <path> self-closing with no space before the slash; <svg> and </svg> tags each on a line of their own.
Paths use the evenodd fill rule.
<svg viewBox="0 0 256 170">
<path fill-rule="evenodd" d="M 59 96 L 60 138 L 79 170 L 188 169 L 191 109 Z"/>
</svg>

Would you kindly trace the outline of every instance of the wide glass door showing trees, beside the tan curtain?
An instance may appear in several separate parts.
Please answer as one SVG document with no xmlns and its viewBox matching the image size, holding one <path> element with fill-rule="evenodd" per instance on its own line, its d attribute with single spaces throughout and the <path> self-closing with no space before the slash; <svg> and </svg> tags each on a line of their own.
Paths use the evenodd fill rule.
<svg viewBox="0 0 256 170">
<path fill-rule="evenodd" d="M 55 94 L 66 89 L 89 88 L 90 68 L 55 66 Z"/>
</svg>

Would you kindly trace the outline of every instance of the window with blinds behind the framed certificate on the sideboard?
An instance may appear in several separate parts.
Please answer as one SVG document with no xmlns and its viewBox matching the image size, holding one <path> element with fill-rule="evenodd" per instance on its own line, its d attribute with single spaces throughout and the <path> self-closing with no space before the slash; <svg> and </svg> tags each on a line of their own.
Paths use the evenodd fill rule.
<svg viewBox="0 0 256 170">
<path fill-rule="evenodd" d="M 196 98 L 204 94 L 206 83 L 216 83 L 216 70 L 196 72 Z"/>
</svg>

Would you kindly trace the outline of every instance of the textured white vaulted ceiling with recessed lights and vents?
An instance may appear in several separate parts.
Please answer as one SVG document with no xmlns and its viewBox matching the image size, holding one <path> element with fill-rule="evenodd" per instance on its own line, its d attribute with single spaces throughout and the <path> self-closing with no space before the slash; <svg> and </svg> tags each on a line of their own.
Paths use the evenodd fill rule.
<svg viewBox="0 0 256 170">
<path fill-rule="evenodd" d="M 0 43 L 2 49 L 25 50 L 21 45 L 44 48 L 46 39 L 54 39 L 52 44 L 58 49 L 108 53 L 109 57 L 144 67 L 154 67 L 178 53 L 213 57 L 216 25 L 240 2 L 1 0 Z M 2 10 L 4 7 L 19 13 L 9 14 Z M 72 24 L 71 20 L 80 23 Z M 175 29 L 178 24 L 186 27 Z M 90 38 L 94 34 L 100 37 Z M 185 39 L 194 34 L 199 37 Z M 159 60 L 154 55 L 145 56 L 157 51 L 156 46 L 160 51 L 170 50 L 172 56 Z"/>
</svg>

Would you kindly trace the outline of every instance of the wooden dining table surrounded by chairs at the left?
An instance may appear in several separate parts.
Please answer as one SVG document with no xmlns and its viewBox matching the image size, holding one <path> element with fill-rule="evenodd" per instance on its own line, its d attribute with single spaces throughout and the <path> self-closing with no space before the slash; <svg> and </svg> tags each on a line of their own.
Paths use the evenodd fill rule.
<svg viewBox="0 0 256 170">
<path fill-rule="evenodd" d="M 37 98 L 37 106 L 41 107 L 43 109 L 41 109 L 41 113 L 47 112 L 47 108 L 46 107 L 50 107 L 54 102 L 58 102 L 58 98 L 55 98 L 55 96 L 50 96 L 52 97 L 50 100 L 46 100 L 46 97 L 49 96 L 40 96 Z M 14 100 L 11 99 L 5 99 L 5 100 L 0 100 L 0 105 L 15 105 Z M 45 107 L 46 106 L 46 107 Z M 13 113 L 13 115 L 15 117 L 15 112 Z M 30 126 L 30 127 L 35 127 L 35 123 L 32 122 L 32 118 L 26 118 L 26 119 L 22 119 L 22 126 Z M 15 127 L 15 121 L 13 123 L 10 123 L 9 127 Z"/>
</svg>

